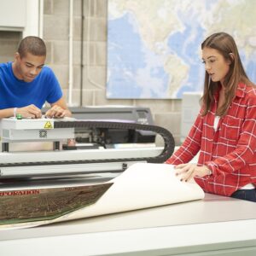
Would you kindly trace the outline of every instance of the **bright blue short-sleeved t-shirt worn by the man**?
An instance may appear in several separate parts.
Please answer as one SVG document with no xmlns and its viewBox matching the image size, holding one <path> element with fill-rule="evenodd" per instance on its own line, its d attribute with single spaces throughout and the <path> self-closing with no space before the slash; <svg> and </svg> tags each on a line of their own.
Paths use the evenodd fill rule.
<svg viewBox="0 0 256 256">
<path fill-rule="evenodd" d="M 27 83 L 15 77 L 12 62 L 0 63 L 0 109 L 30 104 L 42 108 L 44 102 L 57 102 L 61 96 L 61 86 L 49 67 L 44 66 L 38 76 Z"/>
</svg>

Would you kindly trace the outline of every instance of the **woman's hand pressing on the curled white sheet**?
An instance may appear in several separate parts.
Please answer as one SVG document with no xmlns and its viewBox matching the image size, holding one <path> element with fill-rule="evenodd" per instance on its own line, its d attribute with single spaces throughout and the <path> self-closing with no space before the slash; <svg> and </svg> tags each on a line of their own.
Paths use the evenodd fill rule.
<svg viewBox="0 0 256 256">
<path fill-rule="evenodd" d="M 177 170 L 176 175 L 182 175 L 181 181 L 185 182 L 195 176 L 204 177 L 212 174 L 207 166 L 197 166 L 196 164 L 181 164 L 174 168 Z"/>
</svg>

